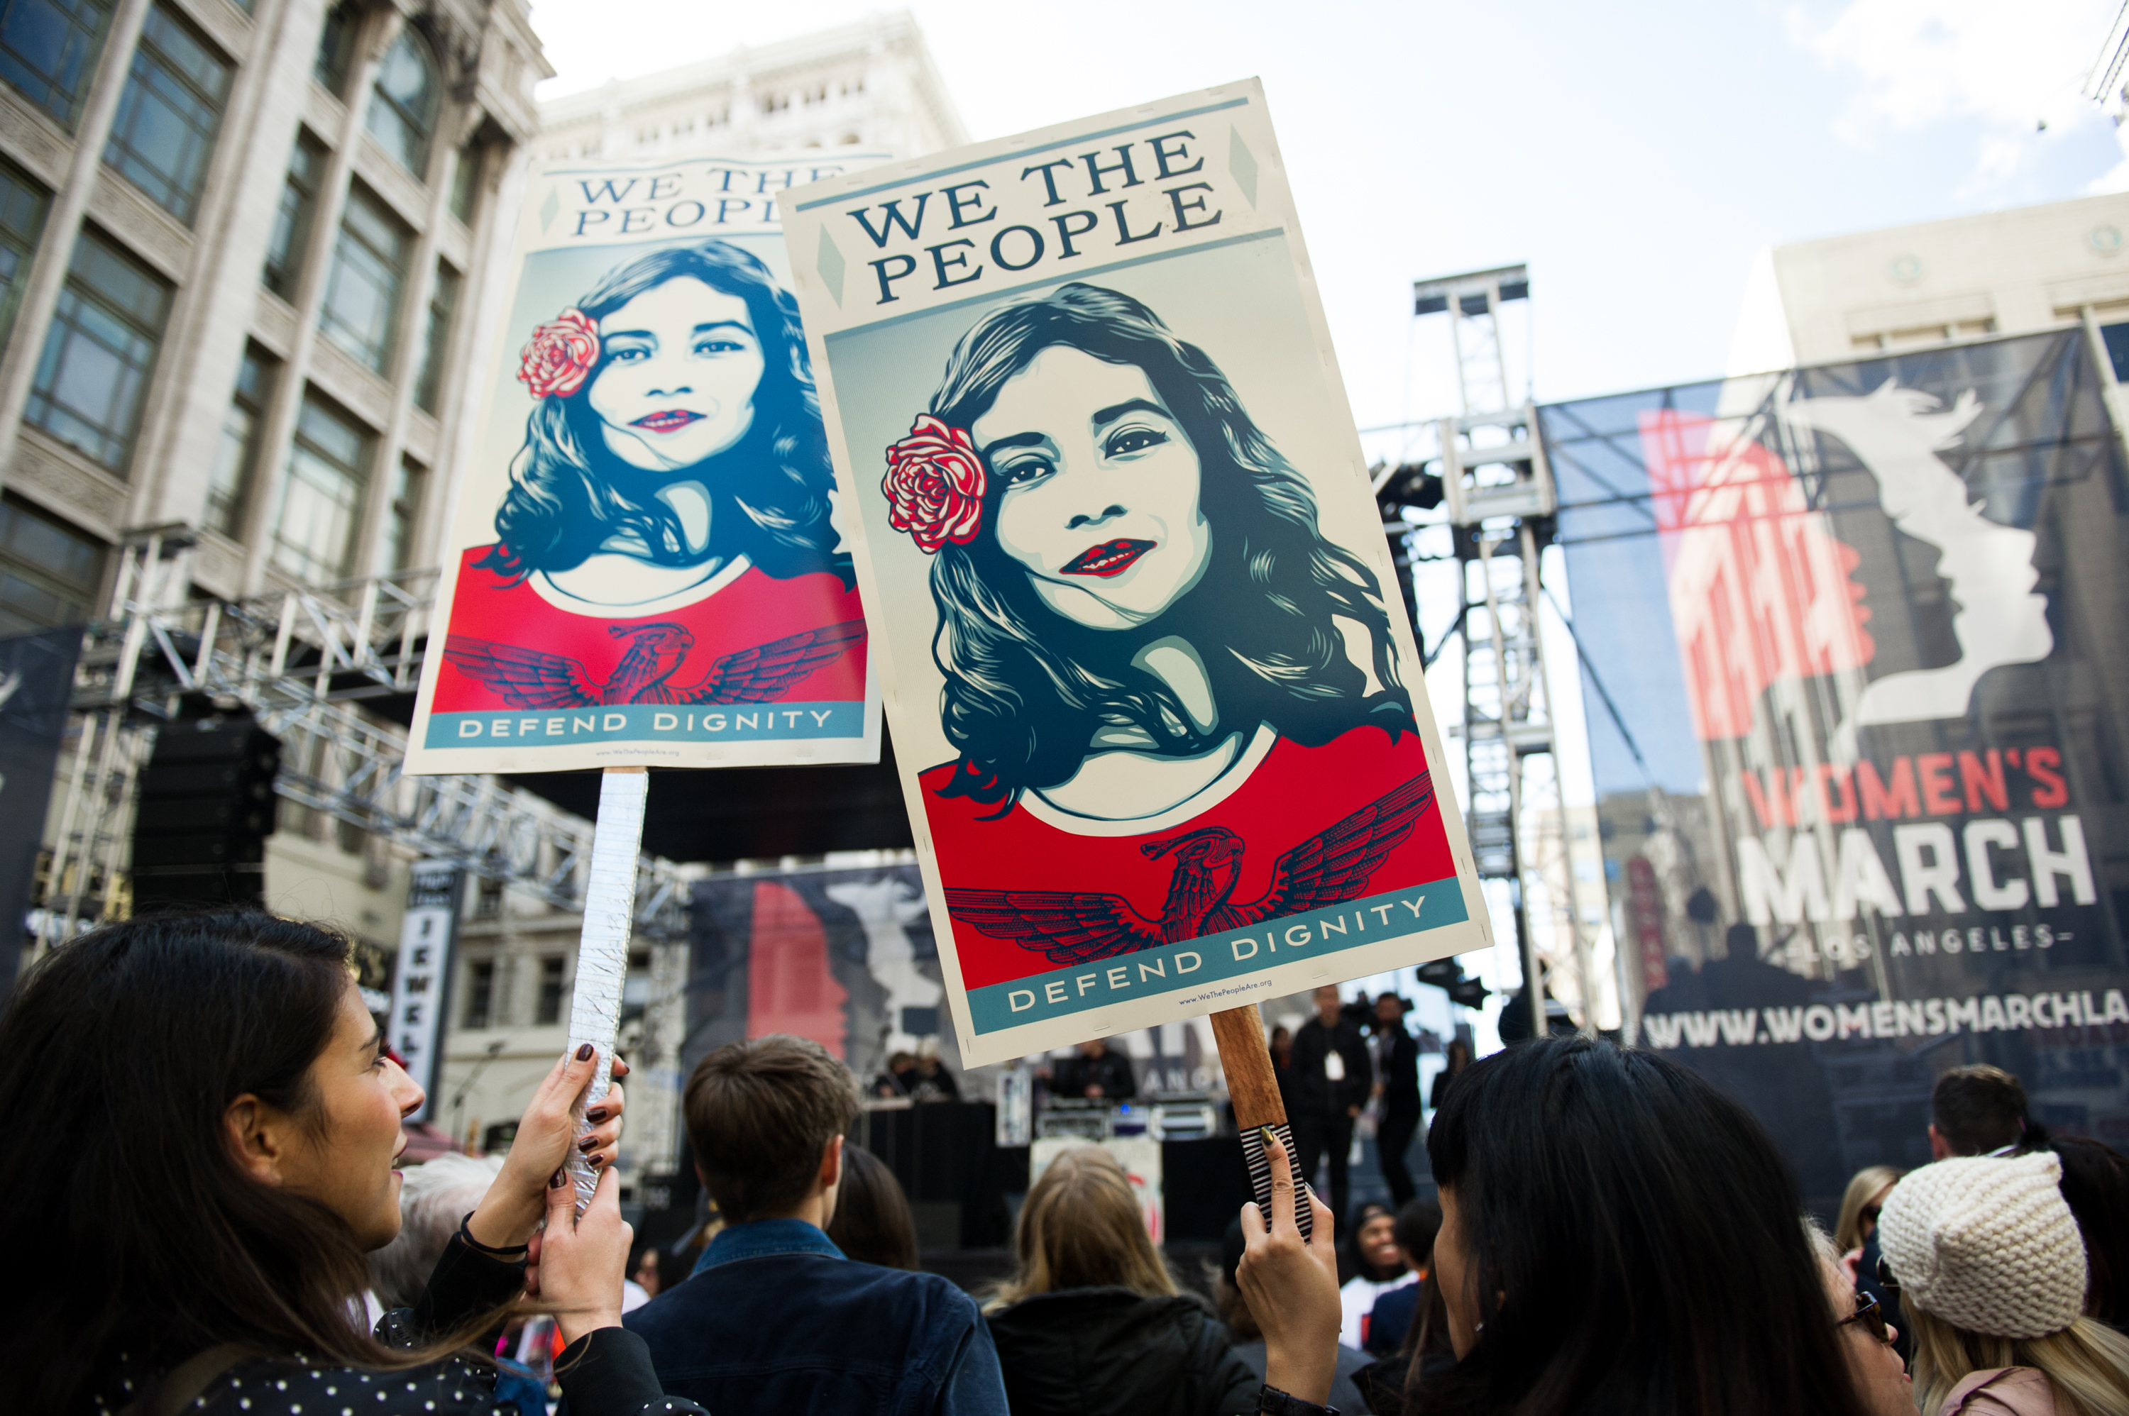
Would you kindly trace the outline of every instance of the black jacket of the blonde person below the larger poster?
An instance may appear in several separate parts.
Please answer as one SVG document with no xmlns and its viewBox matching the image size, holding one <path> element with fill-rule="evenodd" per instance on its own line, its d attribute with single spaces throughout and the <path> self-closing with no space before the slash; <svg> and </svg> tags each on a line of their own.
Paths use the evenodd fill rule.
<svg viewBox="0 0 2129 1416">
<path fill-rule="evenodd" d="M 1237 1416 L 1262 1382 L 1192 1297 L 1064 1288 L 990 1314 L 1013 1416 Z"/>
</svg>

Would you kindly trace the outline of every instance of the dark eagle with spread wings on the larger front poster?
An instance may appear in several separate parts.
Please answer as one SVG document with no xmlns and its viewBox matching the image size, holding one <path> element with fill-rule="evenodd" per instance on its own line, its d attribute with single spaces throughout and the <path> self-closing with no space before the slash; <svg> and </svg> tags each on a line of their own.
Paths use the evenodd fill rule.
<svg viewBox="0 0 2129 1416">
<path fill-rule="evenodd" d="M 1122 894 L 1094 890 L 947 890 L 945 907 L 956 920 L 1037 950 L 1054 965 L 1086 965 L 1365 894 L 1375 867 L 1433 805 L 1433 773 L 1422 771 L 1280 856 L 1271 886 L 1248 905 L 1228 903 L 1241 877 L 1243 839 L 1226 826 L 1205 826 L 1139 845 L 1148 860 L 1175 858 L 1158 920 L 1141 916 Z"/>
</svg>

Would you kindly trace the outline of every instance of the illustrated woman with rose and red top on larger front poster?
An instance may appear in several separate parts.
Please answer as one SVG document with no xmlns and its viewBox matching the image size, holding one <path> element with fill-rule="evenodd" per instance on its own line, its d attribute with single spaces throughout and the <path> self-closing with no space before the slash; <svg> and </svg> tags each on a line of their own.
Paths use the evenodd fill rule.
<svg viewBox="0 0 2129 1416">
<path fill-rule="evenodd" d="M 935 558 L 954 758 L 922 786 L 964 982 L 1452 873 L 1373 571 L 1154 311 L 1071 283 L 988 313 L 886 494 Z M 1271 879 L 1339 828 L 1337 879 Z M 1090 882 L 1137 918 L 1058 894 Z"/>
</svg>

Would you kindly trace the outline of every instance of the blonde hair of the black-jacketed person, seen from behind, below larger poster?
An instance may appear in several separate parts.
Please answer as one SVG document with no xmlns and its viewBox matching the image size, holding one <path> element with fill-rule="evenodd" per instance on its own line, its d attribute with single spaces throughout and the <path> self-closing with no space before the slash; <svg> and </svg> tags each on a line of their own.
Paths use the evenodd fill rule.
<svg viewBox="0 0 2129 1416">
<path fill-rule="evenodd" d="M 1139 1218 L 1124 1167 L 1101 1146 L 1075 1146 L 1041 1173 L 1013 1231 L 1020 1271 L 990 1312 L 1058 1288 L 1130 1288 L 1173 1297 L 1175 1278 Z"/>
</svg>

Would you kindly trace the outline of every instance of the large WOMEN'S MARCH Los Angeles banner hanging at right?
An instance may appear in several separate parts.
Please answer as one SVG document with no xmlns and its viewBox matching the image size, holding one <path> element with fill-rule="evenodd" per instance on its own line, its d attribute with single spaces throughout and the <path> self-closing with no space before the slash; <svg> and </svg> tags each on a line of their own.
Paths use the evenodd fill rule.
<svg viewBox="0 0 2129 1416">
<path fill-rule="evenodd" d="M 1831 1207 L 1986 1060 L 2129 1141 L 2129 479 L 2080 332 L 1541 409 L 1639 1041 Z"/>
</svg>

